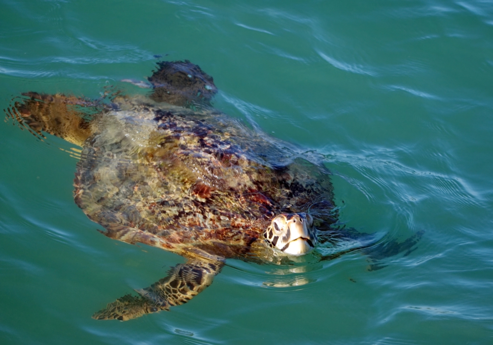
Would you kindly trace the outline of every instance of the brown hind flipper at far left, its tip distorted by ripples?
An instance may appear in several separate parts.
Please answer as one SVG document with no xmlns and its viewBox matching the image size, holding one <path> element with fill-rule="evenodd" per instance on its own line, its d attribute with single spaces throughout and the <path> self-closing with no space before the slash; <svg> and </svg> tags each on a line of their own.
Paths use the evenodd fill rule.
<svg viewBox="0 0 493 345">
<path fill-rule="evenodd" d="M 91 119 L 102 111 L 89 100 L 63 94 L 28 92 L 23 96 L 28 98 L 6 109 L 7 116 L 37 137 L 44 138 L 42 132 L 46 132 L 79 146 L 93 133 Z"/>
</svg>

